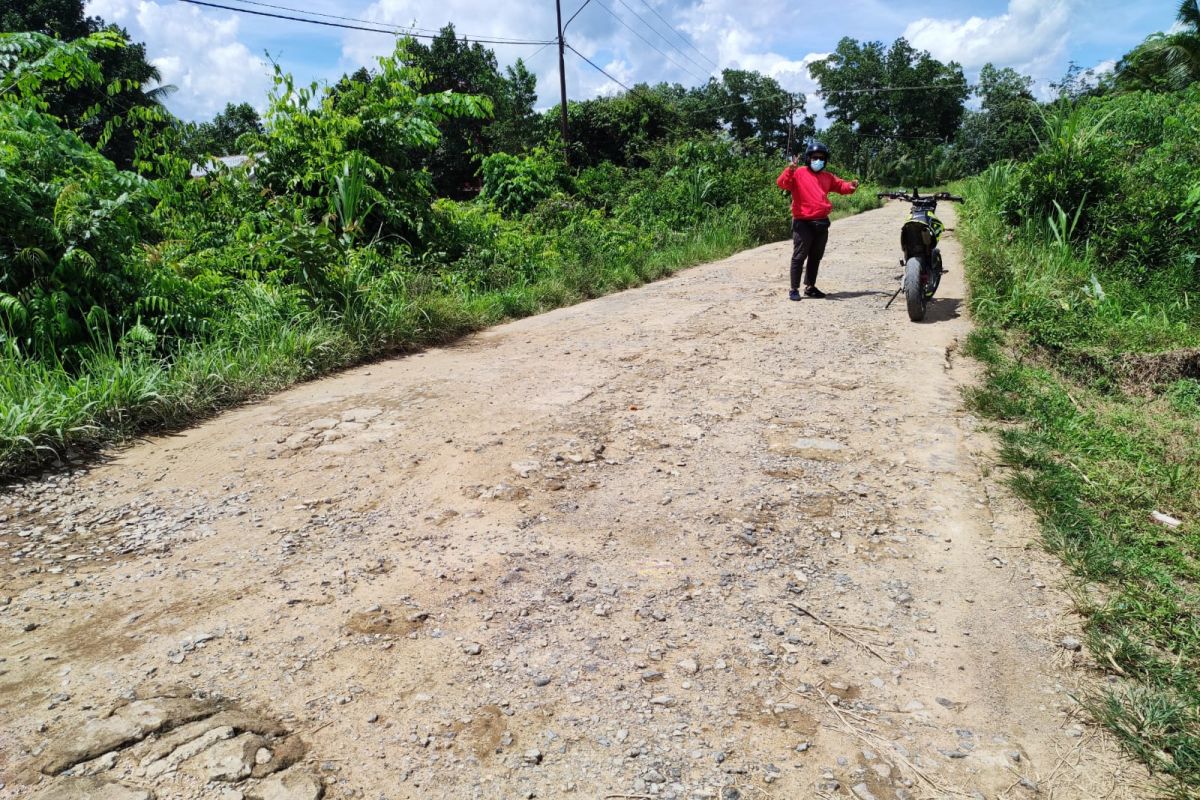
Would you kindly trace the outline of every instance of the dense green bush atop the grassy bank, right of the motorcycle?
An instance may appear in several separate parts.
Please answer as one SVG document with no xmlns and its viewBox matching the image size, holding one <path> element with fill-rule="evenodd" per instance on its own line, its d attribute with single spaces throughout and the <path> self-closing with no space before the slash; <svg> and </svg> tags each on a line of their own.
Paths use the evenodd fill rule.
<svg viewBox="0 0 1200 800">
<path fill-rule="evenodd" d="M 1087 100 L 1044 114 L 1040 148 L 1021 163 L 1001 207 L 1010 225 L 1066 215 L 1102 278 L 1144 287 L 1157 300 L 1200 287 L 1200 88 Z"/>
</svg>

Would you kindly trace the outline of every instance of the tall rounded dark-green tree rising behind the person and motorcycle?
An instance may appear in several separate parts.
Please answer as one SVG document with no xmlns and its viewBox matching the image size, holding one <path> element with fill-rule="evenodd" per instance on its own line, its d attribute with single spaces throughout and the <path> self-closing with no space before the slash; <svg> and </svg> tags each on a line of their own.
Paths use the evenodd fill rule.
<svg viewBox="0 0 1200 800">
<path fill-rule="evenodd" d="M 884 180 L 908 179 L 913 164 L 930 161 L 935 143 L 954 137 L 970 94 L 959 64 L 942 64 L 904 38 L 889 48 L 842 38 L 809 71 L 842 145 L 839 160 Z"/>
</svg>

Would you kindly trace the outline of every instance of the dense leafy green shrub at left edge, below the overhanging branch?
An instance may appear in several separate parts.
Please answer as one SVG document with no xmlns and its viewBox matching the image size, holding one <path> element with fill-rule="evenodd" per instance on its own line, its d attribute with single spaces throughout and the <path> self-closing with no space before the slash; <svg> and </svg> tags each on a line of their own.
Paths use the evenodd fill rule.
<svg viewBox="0 0 1200 800">
<path fill-rule="evenodd" d="M 71 362 L 90 327 L 120 336 L 152 317 L 133 252 L 149 231 L 151 187 L 118 170 L 41 112 L 0 101 L 0 338 Z"/>
</svg>

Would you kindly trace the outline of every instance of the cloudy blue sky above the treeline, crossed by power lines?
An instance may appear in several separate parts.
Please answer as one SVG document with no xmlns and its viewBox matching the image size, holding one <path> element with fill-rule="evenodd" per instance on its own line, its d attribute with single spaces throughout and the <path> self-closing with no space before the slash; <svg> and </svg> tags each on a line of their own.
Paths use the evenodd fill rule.
<svg viewBox="0 0 1200 800">
<path fill-rule="evenodd" d="M 272 11 L 241 0 L 212 1 Z M 548 40 L 556 28 L 553 0 L 262 1 L 428 30 L 452 22 L 460 34 L 473 37 Z M 582 2 L 564 0 L 564 16 L 575 13 Z M 808 64 L 828 54 L 844 36 L 886 43 L 905 36 L 935 58 L 959 61 L 968 78 L 991 61 L 1032 76 L 1044 91 L 1072 60 L 1084 67 L 1110 68 L 1147 35 L 1168 29 L 1176 6 L 1175 0 L 590 0 L 568 30 L 568 41 L 628 84 L 695 85 L 727 67 L 758 70 L 787 89 L 806 91 L 809 112 L 820 113 Z M 90 0 L 86 7 L 88 13 L 125 26 L 146 43 L 164 82 L 179 88 L 168 106 L 193 120 L 211 118 L 227 102 L 247 101 L 262 108 L 270 88 L 269 60 L 278 61 L 300 82 L 336 80 L 392 48 L 389 36 L 179 0 Z M 502 44 L 493 49 L 502 65 L 520 56 L 538 73 L 540 106 L 557 102 L 556 48 Z M 619 91 L 570 53 L 568 89 L 572 98 Z"/>
</svg>

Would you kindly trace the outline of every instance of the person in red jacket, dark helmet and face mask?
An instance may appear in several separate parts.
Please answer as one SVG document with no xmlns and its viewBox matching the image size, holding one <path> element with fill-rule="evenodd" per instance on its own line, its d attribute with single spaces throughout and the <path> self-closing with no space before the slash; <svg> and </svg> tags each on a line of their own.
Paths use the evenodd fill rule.
<svg viewBox="0 0 1200 800">
<path fill-rule="evenodd" d="M 800 299 L 800 271 L 804 271 L 804 296 L 823 297 L 817 289 L 817 270 L 829 241 L 829 192 L 853 194 L 858 181 L 844 181 L 824 170 L 829 161 L 829 148 L 820 142 L 809 144 L 804 151 L 804 167 L 787 166 L 775 184 L 792 194 L 792 289 L 788 300 Z M 808 261 L 808 264 L 805 264 Z"/>
</svg>

